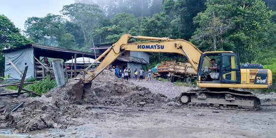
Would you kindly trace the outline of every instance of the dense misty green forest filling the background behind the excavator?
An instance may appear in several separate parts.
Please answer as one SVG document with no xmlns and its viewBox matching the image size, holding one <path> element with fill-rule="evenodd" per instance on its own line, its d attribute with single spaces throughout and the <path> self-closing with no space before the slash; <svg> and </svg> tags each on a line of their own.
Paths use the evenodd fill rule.
<svg viewBox="0 0 276 138">
<path fill-rule="evenodd" d="M 234 51 L 241 62 L 276 66 L 274 0 L 76 0 L 60 13 L 29 17 L 24 36 L 1 15 L 0 48 L 33 42 L 87 51 L 129 33 L 186 39 L 201 51 Z M 152 63 L 169 59 L 180 56 L 151 55 Z"/>
</svg>

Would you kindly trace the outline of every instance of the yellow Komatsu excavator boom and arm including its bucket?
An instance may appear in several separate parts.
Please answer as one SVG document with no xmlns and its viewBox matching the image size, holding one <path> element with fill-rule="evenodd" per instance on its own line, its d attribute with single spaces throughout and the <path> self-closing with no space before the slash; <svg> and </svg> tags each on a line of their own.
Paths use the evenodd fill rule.
<svg viewBox="0 0 276 138">
<path fill-rule="evenodd" d="M 129 39 L 132 38 L 147 41 L 128 43 Z M 202 52 L 197 49 L 195 45 L 183 39 L 131 36 L 129 34 L 125 34 L 95 60 L 94 63 L 97 63 L 101 58 L 105 57 L 94 72 L 89 71 L 89 68 L 94 63 L 89 65 L 84 70 L 84 76 L 85 74 L 88 74 L 89 78 L 85 79 L 85 77 L 83 77 L 80 79 L 78 83 L 73 85 L 71 93 L 75 95 L 77 99 L 81 100 L 84 89 L 90 88 L 91 82 L 125 51 L 177 53 L 185 56 L 195 71 L 197 71 L 200 56 L 202 54 Z"/>
</svg>

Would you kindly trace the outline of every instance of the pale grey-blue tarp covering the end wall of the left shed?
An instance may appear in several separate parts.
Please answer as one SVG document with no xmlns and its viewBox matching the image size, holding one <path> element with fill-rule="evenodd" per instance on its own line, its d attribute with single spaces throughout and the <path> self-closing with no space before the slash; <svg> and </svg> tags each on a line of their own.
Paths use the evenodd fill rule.
<svg viewBox="0 0 276 138">
<path fill-rule="evenodd" d="M 9 59 L 15 64 L 21 74 L 24 73 L 25 66 L 28 66 L 26 79 L 34 77 L 34 50 L 33 48 L 5 53 L 5 76 L 9 79 L 21 79 L 20 74 L 15 70 Z"/>
</svg>

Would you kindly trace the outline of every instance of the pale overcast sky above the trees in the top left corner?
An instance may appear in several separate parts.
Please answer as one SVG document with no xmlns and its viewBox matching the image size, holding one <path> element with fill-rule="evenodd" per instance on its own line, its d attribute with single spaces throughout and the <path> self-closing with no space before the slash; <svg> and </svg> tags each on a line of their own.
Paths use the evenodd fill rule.
<svg viewBox="0 0 276 138">
<path fill-rule="evenodd" d="M 62 6 L 72 3 L 74 0 L 0 0 L 0 14 L 4 14 L 17 28 L 24 30 L 24 22 L 28 17 L 60 14 Z"/>
</svg>

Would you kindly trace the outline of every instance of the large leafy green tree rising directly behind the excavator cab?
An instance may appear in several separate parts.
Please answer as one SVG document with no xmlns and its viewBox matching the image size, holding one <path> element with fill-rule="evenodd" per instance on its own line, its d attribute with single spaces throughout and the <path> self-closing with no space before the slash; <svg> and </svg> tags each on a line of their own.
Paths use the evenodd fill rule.
<svg viewBox="0 0 276 138">
<path fill-rule="evenodd" d="M 269 24 L 272 15 L 265 4 L 261 0 L 210 0 L 206 7 L 194 18 L 199 28 L 191 41 L 203 51 L 235 51 L 242 62 L 256 59 L 260 48 L 258 33 Z"/>
</svg>

